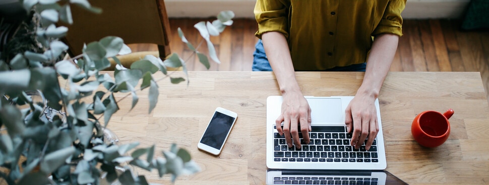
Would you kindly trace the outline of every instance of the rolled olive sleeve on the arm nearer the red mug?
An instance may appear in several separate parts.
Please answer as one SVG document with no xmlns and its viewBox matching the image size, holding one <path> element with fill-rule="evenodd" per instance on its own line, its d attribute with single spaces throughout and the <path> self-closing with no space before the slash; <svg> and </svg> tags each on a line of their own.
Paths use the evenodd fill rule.
<svg viewBox="0 0 489 185">
<path fill-rule="evenodd" d="M 386 7 L 384 15 L 379 25 L 372 33 L 373 36 L 382 33 L 391 33 L 402 36 L 402 17 L 401 12 L 406 6 L 406 0 L 390 1 Z"/>
</svg>

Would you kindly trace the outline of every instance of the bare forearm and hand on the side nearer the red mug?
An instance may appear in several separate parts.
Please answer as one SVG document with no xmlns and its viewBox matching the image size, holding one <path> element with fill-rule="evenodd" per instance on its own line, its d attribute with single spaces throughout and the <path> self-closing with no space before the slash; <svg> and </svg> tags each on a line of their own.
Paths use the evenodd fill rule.
<svg viewBox="0 0 489 185">
<path fill-rule="evenodd" d="M 351 145 L 355 148 L 359 148 L 368 137 L 365 147 L 370 149 L 379 132 L 375 100 L 389 72 L 398 42 L 398 35 L 379 34 L 375 36 L 370 55 L 367 58 L 363 81 L 345 112 L 345 124 L 348 132 L 353 129 Z"/>
</svg>

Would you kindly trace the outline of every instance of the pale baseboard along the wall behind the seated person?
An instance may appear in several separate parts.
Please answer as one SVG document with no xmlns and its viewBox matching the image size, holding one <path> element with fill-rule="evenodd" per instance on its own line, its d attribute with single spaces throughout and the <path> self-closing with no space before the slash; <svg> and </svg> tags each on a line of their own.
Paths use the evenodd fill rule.
<svg viewBox="0 0 489 185">
<path fill-rule="evenodd" d="M 470 0 L 407 0 L 404 19 L 456 19 L 463 17 Z M 254 18 L 256 0 L 165 0 L 170 18 L 208 18 L 231 10 L 236 18 Z"/>
</svg>

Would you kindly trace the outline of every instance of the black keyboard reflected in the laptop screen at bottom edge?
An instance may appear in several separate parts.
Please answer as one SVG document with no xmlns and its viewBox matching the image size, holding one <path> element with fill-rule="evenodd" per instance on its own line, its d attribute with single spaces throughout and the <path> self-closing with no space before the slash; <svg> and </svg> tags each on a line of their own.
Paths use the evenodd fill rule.
<svg viewBox="0 0 489 185">
<path fill-rule="evenodd" d="M 359 177 L 273 177 L 274 184 L 378 184 L 378 178 Z"/>
</svg>

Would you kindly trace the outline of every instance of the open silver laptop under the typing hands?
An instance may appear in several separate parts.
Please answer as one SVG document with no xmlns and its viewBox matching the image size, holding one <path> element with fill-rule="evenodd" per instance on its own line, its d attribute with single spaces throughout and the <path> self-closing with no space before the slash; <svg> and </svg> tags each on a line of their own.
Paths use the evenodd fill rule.
<svg viewBox="0 0 489 185">
<path fill-rule="evenodd" d="M 277 133 L 282 97 L 267 99 L 267 184 L 385 184 L 398 179 L 383 171 L 387 162 L 378 101 L 379 133 L 365 150 L 350 146 L 351 134 L 346 133 L 344 112 L 353 97 L 306 98 L 312 109 L 311 142 L 301 149 L 288 148 Z"/>
</svg>

